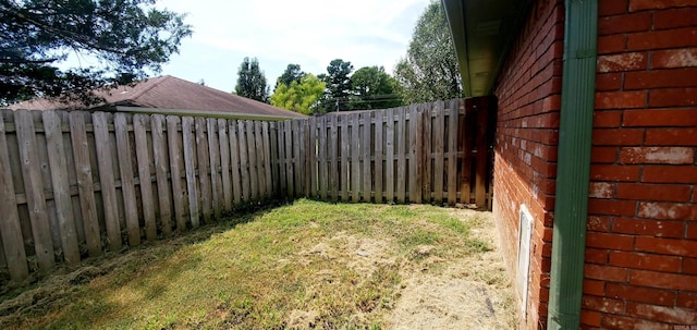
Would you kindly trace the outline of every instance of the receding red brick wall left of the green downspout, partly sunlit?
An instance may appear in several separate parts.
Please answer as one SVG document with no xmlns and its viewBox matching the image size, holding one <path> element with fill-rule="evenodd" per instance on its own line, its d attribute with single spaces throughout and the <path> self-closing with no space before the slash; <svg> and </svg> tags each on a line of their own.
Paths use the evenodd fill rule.
<svg viewBox="0 0 697 330">
<path fill-rule="evenodd" d="M 537 1 L 494 88 L 499 102 L 493 212 L 512 278 L 521 205 L 535 218 L 527 316 L 521 329 L 543 328 L 547 322 L 563 21 L 563 1 Z"/>
</svg>

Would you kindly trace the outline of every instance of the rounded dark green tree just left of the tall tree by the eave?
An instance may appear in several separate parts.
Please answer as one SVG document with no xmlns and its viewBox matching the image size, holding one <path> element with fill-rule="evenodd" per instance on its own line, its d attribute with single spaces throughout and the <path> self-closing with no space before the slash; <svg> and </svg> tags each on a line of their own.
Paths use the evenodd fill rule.
<svg viewBox="0 0 697 330">
<path fill-rule="evenodd" d="M 351 76 L 351 109 L 384 109 L 403 105 L 396 80 L 383 66 L 365 66 Z"/>
</svg>

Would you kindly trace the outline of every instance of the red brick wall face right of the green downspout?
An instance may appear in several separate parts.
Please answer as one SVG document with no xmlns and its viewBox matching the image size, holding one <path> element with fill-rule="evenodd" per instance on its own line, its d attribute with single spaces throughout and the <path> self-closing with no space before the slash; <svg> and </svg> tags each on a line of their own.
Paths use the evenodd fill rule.
<svg viewBox="0 0 697 330">
<path fill-rule="evenodd" d="M 599 15 L 582 328 L 697 325 L 697 1 Z"/>
</svg>

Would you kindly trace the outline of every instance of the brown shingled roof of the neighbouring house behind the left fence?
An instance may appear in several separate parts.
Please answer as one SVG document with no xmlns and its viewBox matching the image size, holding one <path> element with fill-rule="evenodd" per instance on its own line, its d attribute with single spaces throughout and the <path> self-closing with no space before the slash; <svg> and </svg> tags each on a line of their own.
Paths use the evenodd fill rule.
<svg viewBox="0 0 697 330">
<path fill-rule="evenodd" d="M 277 108 L 170 75 L 148 78 L 134 85 L 118 86 L 95 93 L 105 102 L 85 106 L 38 98 L 10 106 L 12 110 L 106 110 L 166 114 L 205 114 L 245 119 L 305 118 L 304 114 Z"/>
</svg>

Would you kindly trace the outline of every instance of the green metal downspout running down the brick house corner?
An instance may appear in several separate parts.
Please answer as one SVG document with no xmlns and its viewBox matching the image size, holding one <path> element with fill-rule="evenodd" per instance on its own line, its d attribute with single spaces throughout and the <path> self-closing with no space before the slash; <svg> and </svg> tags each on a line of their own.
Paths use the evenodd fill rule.
<svg viewBox="0 0 697 330">
<path fill-rule="evenodd" d="M 578 329 L 596 89 L 598 1 L 565 0 L 548 329 Z"/>
</svg>

